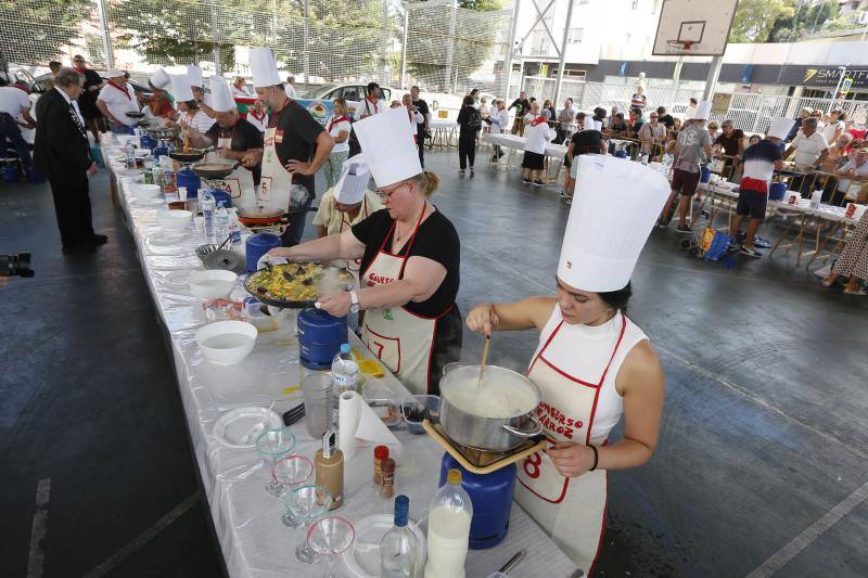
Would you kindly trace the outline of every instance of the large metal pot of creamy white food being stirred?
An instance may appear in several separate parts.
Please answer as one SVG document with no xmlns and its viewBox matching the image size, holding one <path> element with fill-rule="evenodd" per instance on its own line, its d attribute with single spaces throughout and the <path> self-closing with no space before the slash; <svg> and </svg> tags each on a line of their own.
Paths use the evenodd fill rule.
<svg viewBox="0 0 868 578">
<path fill-rule="evenodd" d="M 514 371 L 489 365 L 487 380 L 495 385 L 483 398 L 475 388 L 478 372 L 477 365 L 465 365 L 441 380 L 441 425 L 452 441 L 469 448 L 508 451 L 542 433 L 542 425 L 534 415 L 540 400 L 534 382 Z M 495 407 L 496 402 L 502 407 Z M 501 410 L 505 415 L 485 415 Z"/>
</svg>

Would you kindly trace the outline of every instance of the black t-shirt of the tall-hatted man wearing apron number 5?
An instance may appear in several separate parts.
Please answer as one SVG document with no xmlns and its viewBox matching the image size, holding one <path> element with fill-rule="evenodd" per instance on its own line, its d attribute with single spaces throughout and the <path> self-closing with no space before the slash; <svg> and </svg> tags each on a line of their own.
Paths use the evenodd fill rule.
<svg viewBox="0 0 868 578">
<path fill-rule="evenodd" d="M 271 113 L 268 117 L 268 128 L 277 127 L 275 149 L 282 165 L 289 160 L 309 162 L 314 158 L 315 143 L 320 132 L 326 129 L 317 123 L 307 110 L 291 100 L 279 113 Z M 314 191 L 314 175 L 293 176 L 293 183 L 304 185 L 310 194 Z"/>
</svg>

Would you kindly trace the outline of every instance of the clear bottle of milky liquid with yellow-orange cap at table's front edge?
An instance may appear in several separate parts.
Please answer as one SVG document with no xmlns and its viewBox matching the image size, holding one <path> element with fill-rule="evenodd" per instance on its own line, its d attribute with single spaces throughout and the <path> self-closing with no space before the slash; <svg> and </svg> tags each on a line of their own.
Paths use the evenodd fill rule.
<svg viewBox="0 0 868 578">
<path fill-rule="evenodd" d="M 429 504 L 425 578 L 464 578 L 471 518 L 473 504 L 461 487 L 461 471 L 449 470 Z"/>
</svg>

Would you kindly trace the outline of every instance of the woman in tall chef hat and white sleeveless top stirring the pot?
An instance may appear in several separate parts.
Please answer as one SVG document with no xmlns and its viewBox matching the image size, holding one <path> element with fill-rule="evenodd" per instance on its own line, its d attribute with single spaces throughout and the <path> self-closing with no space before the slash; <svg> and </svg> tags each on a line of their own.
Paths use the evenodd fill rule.
<svg viewBox="0 0 868 578">
<path fill-rule="evenodd" d="M 536 329 L 527 376 L 550 446 L 519 466 L 515 499 L 583 570 L 593 571 L 605 527 L 607 471 L 654 453 L 663 372 L 648 337 L 626 317 L 630 274 L 658 211 L 665 177 L 638 163 L 583 155 L 556 278 L 556 296 L 481 304 L 468 327 Z M 629 183 L 625 187 L 624 183 Z M 608 442 L 624 416 L 624 438 Z"/>
</svg>

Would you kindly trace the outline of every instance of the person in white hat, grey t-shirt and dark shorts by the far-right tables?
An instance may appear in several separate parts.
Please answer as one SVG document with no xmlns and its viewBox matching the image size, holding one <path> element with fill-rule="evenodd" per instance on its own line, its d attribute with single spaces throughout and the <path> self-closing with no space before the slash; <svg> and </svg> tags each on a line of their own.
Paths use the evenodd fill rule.
<svg viewBox="0 0 868 578">
<path fill-rule="evenodd" d="M 705 121 L 709 120 L 709 114 L 712 112 L 712 103 L 710 101 L 702 101 L 697 106 L 690 123 L 681 129 L 678 138 L 672 141 L 669 145 L 676 147 L 676 160 L 672 171 L 672 194 L 669 200 L 666 201 L 666 206 L 658 221 L 658 227 L 666 228 L 669 226 L 669 211 L 678 195 L 681 195 L 681 202 L 678 205 L 678 231 L 689 233 L 692 231 L 687 224 L 687 213 L 690 209 L 693 195 L 697 194 L 697 187 L 699 187 L 700 178 L 700 162 L 702 154 L 705 157 L 712 156 L 712 138 L 705 129 Z"/>
</svg>

